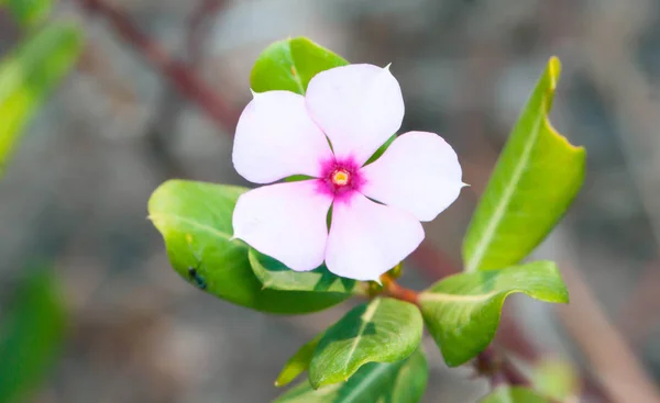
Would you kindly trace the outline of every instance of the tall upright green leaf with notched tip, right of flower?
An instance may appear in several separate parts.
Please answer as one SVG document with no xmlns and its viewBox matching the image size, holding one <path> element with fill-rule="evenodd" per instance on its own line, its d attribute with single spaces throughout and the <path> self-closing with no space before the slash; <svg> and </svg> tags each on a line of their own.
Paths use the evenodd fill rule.
<svg viewBox="0 0 660 403">
<path fill-rule="evenodd" d="M 466 271 L 518 264 L 550 233 L 584 180 L 585 152 L 550 125 L 553 57 L 497 160 L 463 242 Z"/>
</svg>

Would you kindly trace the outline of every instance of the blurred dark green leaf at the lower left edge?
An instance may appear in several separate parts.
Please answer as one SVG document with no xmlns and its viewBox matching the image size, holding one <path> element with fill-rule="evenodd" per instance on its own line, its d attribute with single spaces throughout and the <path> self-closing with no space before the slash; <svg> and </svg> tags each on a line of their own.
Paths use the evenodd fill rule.
<svg viewBox="0 0 660 403">
<path fill-rule="evenodd" d="M 64 343 L 65 311 L 53 276 L 31 273 L 0 325 L 0 403 L 28 401 Z"/>
</svg>

